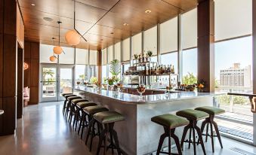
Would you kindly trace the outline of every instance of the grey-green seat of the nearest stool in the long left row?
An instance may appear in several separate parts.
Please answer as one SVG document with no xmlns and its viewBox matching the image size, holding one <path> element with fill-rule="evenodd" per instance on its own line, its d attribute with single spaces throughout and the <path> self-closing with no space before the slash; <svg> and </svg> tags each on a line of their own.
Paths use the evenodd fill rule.
<svg viewBox="0 0 256 155">
<path fill-rule="evenodd" d="M 94 114 L 94 119 L 97 120 L 99 123 L 105 124 L 125 120 L 125 117 L 116 111 L 103 111 Z"/>
</svg>

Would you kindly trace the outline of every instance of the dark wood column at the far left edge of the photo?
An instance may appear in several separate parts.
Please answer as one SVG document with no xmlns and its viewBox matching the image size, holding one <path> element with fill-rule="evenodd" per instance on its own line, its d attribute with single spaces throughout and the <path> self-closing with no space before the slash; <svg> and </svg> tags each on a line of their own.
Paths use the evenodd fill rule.
<svg viewBox="0 0 256 155">
<path fill-rule="evenodd" d="M 16 129 L 17 100 L 17 2 L 0 0 L 0 135 Z"/>
</svg>

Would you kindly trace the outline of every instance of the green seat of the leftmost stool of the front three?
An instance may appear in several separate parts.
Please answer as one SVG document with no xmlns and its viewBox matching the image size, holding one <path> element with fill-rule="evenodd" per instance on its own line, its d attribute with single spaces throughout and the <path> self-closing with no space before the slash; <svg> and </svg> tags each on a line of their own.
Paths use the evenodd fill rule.
<svg viewBox="0 0 256 155">
<path fill-rule="evenodd" d="M 174 129 L 179 126 L 185 126 L 190 123 L 190 121 L 184 119 L 183 117 L 178 117 L 173 114 L 162 114 L 156 117 L 152 117 L 151 121 L 162 126 L 166 126 L 170 129 Z"/>
</svg>

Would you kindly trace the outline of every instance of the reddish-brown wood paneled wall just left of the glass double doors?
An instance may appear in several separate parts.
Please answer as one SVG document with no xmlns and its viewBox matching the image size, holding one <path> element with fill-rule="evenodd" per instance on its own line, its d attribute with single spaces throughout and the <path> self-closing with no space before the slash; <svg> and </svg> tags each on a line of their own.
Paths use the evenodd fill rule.
<svg viewBox="0 0 256 155">
<path fill-rule="evenodd" d="M 39 43 L 25 41 L 24 62 L 29 68 L 24 71 L 24 87 L 29 87 L 29 105 L 39 103 Z"/>
</svg>

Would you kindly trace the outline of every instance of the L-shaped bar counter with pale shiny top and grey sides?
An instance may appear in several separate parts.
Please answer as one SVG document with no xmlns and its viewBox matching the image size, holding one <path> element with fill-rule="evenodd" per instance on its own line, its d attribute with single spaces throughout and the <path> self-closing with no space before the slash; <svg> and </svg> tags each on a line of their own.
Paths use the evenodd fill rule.
<svg viewBox="0 0 256 155">
<path fill-rule="evenodd" d="M 162 126 L 151 122 L 151 117 L 175 114 L 176 111 L 186 108 L 212 106 L 213 97 L 221 95 L 221 93 L 172 92 L 168 96 L 165 94 L 137 96 L 82 86 L 74 87 L 73 93 L 125 116 L 124 121 L 115 124 L 115 129 L 122 151 L 129 155 L 156 151 L 163 129 Z M 183 127 L 175 131 L 179 138 L 182 132 Z"/>
</svg>

